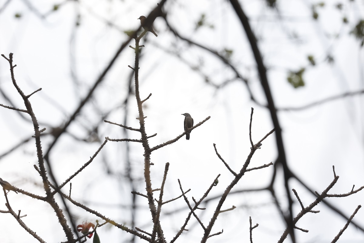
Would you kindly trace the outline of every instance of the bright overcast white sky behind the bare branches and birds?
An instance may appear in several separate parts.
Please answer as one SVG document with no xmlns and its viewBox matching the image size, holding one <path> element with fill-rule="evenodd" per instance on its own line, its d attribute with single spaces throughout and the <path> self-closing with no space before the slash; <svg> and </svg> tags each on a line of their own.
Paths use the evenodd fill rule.
<svg viewBox="0 0 364 243">
<path fill-rule="evenodd" d="M 31 98 L 32 106 L 41 126 L 59 126 L 67 120 L 79 101 L 96 81 L 100 73 L 110 62 L 120 44 L 127 39 L 122 32 L 139 27 L 138 17 L 147 15 L 157 1 L 66 1 L 59 10 L 52 12 L 58 2 L 36 1 L 33 6 L 46 15 L 42 19 L 29 10 L 25 0 L 12 0 L 4 6 L 0 0 L 0 52 L 8 56 L 14 54 L 15 77 L 25 94 L 42 88 Z M 343 1 L 340 11 L 336 1 L 325 1 L 324 7 L 317 7 L 319 17 L 312 20 L 312 4 L 316 1 L 277 1 L 277 10 L 266 6 L 265 1 L 240 1 L 244 11 L 250 17 L 250 24 L 259 40 L 262 56 L 268 68 L 268 79 L 276 106 L 300 107 L 333 95 L 348 91 L 363 90 L 363 49 L 360 41 L 349 32 L 363 17 L 362 1 Z M 249 43 L 240 22 L 234 15 L 227 1 L 169 1 L 166 4 L 167 17 L 172 25 L 185 37 L 205 44 L 214 50 L 232 49 L 232 62 L 241 74 L 248 79 L 253 94 L 265 104 L 256 64 L 252 57 Z M 16 13 L 21 18 L 16 19 Z M 202 13 L 213 29 L 202 27 L 195 31 L 195 23 Z M 74 28 L 78 14 L 80 26 Z M 347 17 L 348 24 L 342 23 Z M 106 21 L 115 26 L 108 26 Z M 191 132 L 191 139 L 182 138 L 173 145 L 168 145 L 152 154 L 152 180 L 157 188 L 161 184 L 164 166 L 170 162 L 165 198 L 179 195 L 177 178 L 185 190 L 191 188 L 191 197 L 199 199 L 213 179 L 221 174 L 219 184 L 210 196 L 219 195 L 232 180 L 232 176 L 218 159 L 213 143 L 218 152 L 235 170 L 240 170 L 249 154 L 249 118 L 250 108 L 254 107 L 252 134 L 257 142 L 272 128 L 269 111 L 250 100 L 246 86 L 241 81 L 232 81 L 220 89 L 207 85 L 202 75 L 194 72 L 181 62 L 178 54 L 192 65 L 200 64 L 201 72 L 208 75 L 210 81 L 220 84 L 233 79 L 232 71 L 206 51 L 185 42 L 176 41 L 167 31 L 165 22 L 157 18 L 154 23 L 158 33 L 156 38 L 147 34 L 142 40 L 145 44 L 140 61 L 141 96 L 150 99 L 145 103 L 146 130 L 148 135 L 158 133 L 150 139 L 150 146 L 171 140 L 183 132 L 182 113 L 190 113 L 195 124 L 211 116 L 209 121 Z M 133 45 L 133 43 L 131 43 Z M 330 54 L 335 62 L 326 60 Z M 316 66 L 310 66 L 307 56 L 313 55 Z M 75 62 L 71 62 L 75 60 Z M 98 87 L 92 105 L 87 105 L 77 122 L 67 131 L 78 137 L 87 134 L 85 128 L 98 124 L 100 112 L 115 109 L 106 119 L 122 123 L 124 119 L 123 102 L 127 94 L 128 77 L 134 66 L 134 52 L 126 48 Z M 287 82 L 289 70 L 298 71 L 305 67 L 305 86 L 294 89 Z M 71 78 L 71 68 L 76 79 Z M 5 59 L 0 59 L 0 86 L 19 108 L 23 102 L 12 86 L 9 66 Z M 143 98 L 142 98 L 143 99 Z M 9 105 L 2 95 L 0 103 Z M 355 96 L 339 99 L 324 105 L 302 111 L 280 111 L 278 113 L 288 165 L 311 188 L 322 192 L 333 180 L 332 165 L 340 176 L 332 193 L 347 193 L 352 185 L 359 188 L 363 179 L 363 98 Z M 128 126 L 138 127 L 137 106 L 134 99 L 129 103 Z M 46 124 L 46 125 L 44 125 Z M 0 154 L 33 134 L 32 125 L 25 123 L 15 111 L 0 109 Z M 49 131 L 49 126 L 46 126 Z M 59 182 L 67 179 L 74 171 L 88 161 L 98 149 L 104 137 L 123 138 L 122 130 L 102 124 L 99 129 L 101 142 L 76 142 L 71 136 L 64 135 L 51 154 L 54 170 Z M 137 132 L 129 132 L 130 138 L 139 138 Z M 251 166 L 260 166 L 276 160 L 276 140 L 274 133 L 268 137 L 260 150 L 257 150 Z M 46 149 L 52 137 L 44 137 Z M 0 177 L 19 188 L 42 195 L 40 177 L 33 168 L 36 164 L 34 142 L 28 142 L 16 152 L 0 160 Z M 140 144 L 131 145 L 131 161 L 134 175 L 140 178 L 138 190 L 144 192 L 143 151 Z M 108 162 L 113 175 L 106 176 Z M 128 225 L 129 211 L 124 206 L 130 204 L 130 188 L 123 183 L 125 173 L 124 144 L 108 142 L 96 160 L 72 182 L 75 199 L 82 201 L 100 213 Z M 260 188 L 269 183 L 273 168 L 247 173 L 237 189 Z M 282 175 L 278 174 L 275 183 L 276 193 L 282 205 L 286 205 Z M 305 206 L 314 197 L 296 181 L 290 181 Z M 57 224 L 55 213 L 48 205 L 10 192 L 8 194 L 15 211 L 21 210 L 25 223 L 36 231 L 46 242 L 66 240 L 62 229 Z M 157 197 L 157 195 L 156 195 Z M 294 196 L 293 196 L 294 197 Z M 331 198 L 329 201 L 350 216 L 357 205 L 362 204 L 364 193 L 360 192 L 347 198 Z M 2 203 L 1 203 L 2 202 Z M 201 216 L 207 224 L 211 212 L 218 201 L 208 204 Z M 5 199 L 0 196 L 0 210 L 5 210 Z M 146 200 L 140 198 L 141 210 L 137 214 L 137 226 L 149 230 L 150 212 Z M 253 231 L 257 242 L 276 242 L 284 231 L 284 224 L 268 192 L 254 192 L 232 195 L 224 203 L 225 208 L 237 206 L 234 211 L 218 217 L 213 231 L 224 230 L 209 242 L 248 242 L 249 216 L 253 224 L 259 227 Z M 183 200 L 166 204 L 165 213 L 185 207 Z M 300 210 L 294 204 L 295 214 Z M 308 233 L 297 231 L 298 242 L 331 242 L 345 221 L 333 211 L 319 204 L 318 214 L 305 215 L 298 227 L 309 230 Z M 72 207 L 77 215 L 76 222 L 96 217 Z M 171 240 L 183 224 L 187 211 L 173 215 L 163 215 L 162 225 L 165 236 Z M 363 209 L 354 220 L 364 227 Z M 183 233 L 180 241 L 199 242 L 202 237 L 201 227 L 191 221 L 190 231 Z M 0 242 L 36 242 L 27 232 L 17 225 L 13 217 L 0 214 Z M 111 226 L 98 230 L 102 242 L 127 242 L 131 235 Z M 340 238 L 340 242 L 363 242 L 364 234 L 350 225 Z M 289 242 L 287 239 L 286 242 Z M 142 242 L 137 240 L 137 242 Z"/>
</svg>

